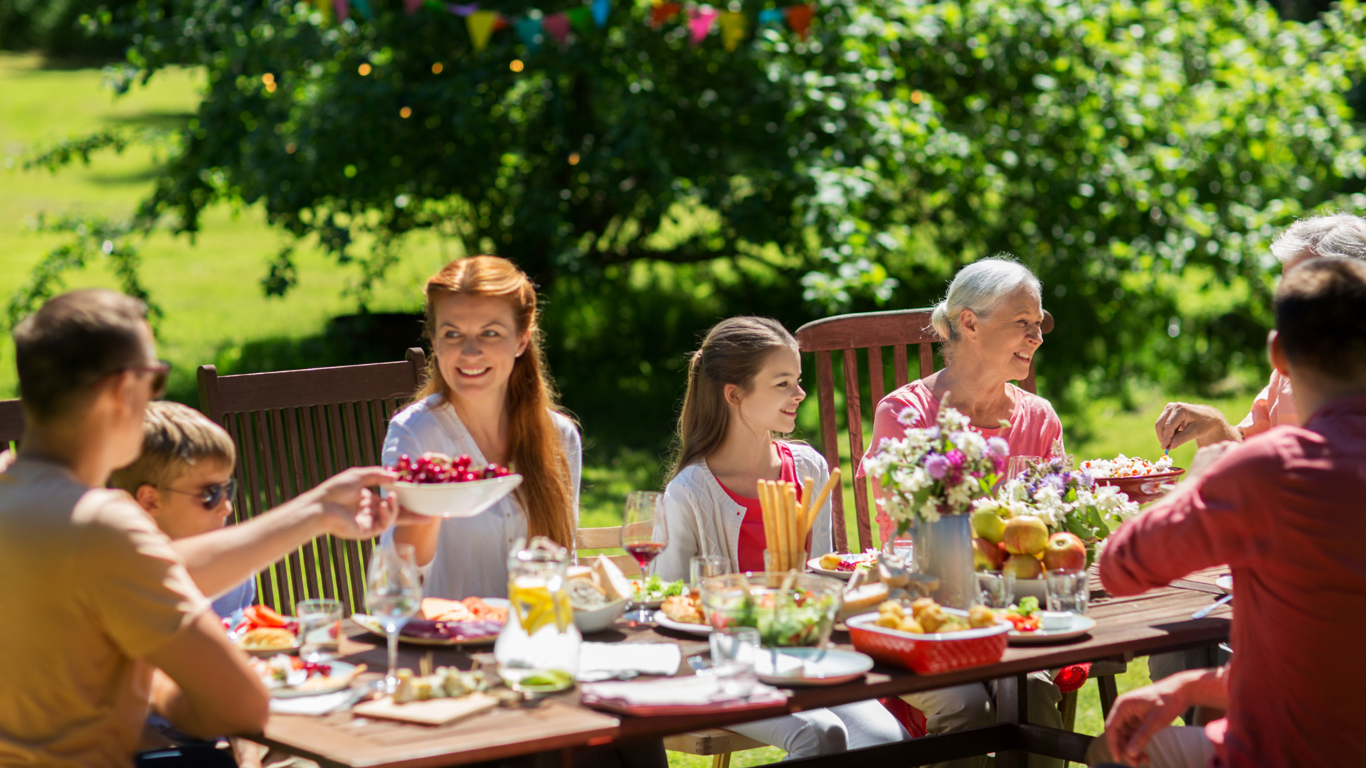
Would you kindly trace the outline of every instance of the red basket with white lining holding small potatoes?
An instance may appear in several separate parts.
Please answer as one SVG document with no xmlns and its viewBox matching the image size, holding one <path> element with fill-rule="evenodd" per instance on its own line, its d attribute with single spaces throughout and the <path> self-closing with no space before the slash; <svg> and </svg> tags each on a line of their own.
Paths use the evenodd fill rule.
<svg viewBox="0 0 1366 768">
<path fill-rule="evenodd" d="M 944 608 L 945 614 L 967 616 L 966 611 Z M 850 627 L 854 648 L 884 664 L 906 667 L 918 675 L 934 675 L 951 670 L 994 664 L 1005 655 L 1007 633 L 1012 625 L 996 622 L 993 627 L 975 630 L 914 634 L 880 627 L 873 622 L 877 614 L 862 614 L 844 622 Z"/>
</svg>

